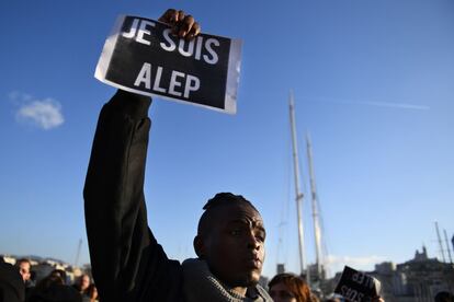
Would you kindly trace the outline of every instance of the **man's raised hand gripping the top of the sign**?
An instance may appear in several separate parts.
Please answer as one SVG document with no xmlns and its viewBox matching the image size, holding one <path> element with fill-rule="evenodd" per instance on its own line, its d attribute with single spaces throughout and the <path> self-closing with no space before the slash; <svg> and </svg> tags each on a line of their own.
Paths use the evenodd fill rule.
<svg viewBox="0 0 454 302">
<path fill-rule="evenodd" d="M 169 9 L 159 21 L 171 25 L 173 34 L 185 39 L 192 39 L 201 33 L 201 26 L 194 18 L 190 14 L 185 15 L 183 11 Z"/>
</svg>

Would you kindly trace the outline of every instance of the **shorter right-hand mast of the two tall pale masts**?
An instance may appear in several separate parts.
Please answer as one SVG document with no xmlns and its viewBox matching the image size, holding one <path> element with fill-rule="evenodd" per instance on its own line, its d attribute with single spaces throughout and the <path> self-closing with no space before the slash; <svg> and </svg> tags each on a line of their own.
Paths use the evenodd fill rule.
<svg viewBox="0 0 454 302">
<path fill-rule="evenodd" d="M 314 237 L 316 245 L 316 266 L 317 266 L 317 277 L 321 279 L 321 230 L 320 230 L 320 220 L 318 211 L 318 196 L 317 196 L 317 186 L 315 181 L 314 173 L 314 163 L 313 163 L 313 144 L 310 141 L 309 132 L 306 133 L 306 143 L 307 143 L 307 158 L 309 162 L 309 176 L 310 176 L 310 193 L 311 193 L 311 204 L 313 204 L 313 221 L 314 221 Z"/>
</svg>

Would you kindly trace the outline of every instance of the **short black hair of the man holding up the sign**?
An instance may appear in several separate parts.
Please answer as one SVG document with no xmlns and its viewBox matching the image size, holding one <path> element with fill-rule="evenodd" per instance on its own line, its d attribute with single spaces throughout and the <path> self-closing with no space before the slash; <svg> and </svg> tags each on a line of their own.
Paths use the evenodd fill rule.
<svg viewBox="0 0 454 302">
<path fill-rule="evenodd" d="M 203 206 L 205 210 L 198 220 L 197 226 L 197 235 L 204 235 L 205 230 L 209 230 L 208 226 L 211 225 L 211 217 L 214 210 L 223 207 L 223 206 L 230 206 L 230 205 L 247 205 L 251 207 L 253 210 L 259 212 L 256 207 L 242 197 L 242 195 L 235 195 L 231 193 L 218 193 L 213 198 L 208 199 L 208 201 Z"/>
</svg>

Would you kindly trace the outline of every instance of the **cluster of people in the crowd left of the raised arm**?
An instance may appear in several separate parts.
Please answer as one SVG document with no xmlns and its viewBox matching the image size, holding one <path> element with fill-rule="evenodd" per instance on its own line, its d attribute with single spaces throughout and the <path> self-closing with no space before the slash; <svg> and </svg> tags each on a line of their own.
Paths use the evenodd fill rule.
<svg viewBox="0 0 454 302">
<path fill-rule="evenodd" d="M 32 264 L 21 258 L 11 265 L 0 257 L 0 302 L 98 302 L 98 289 L 92 278 L 82 274 L 68 282 L 63 269 L 54 269 L 42 278 L 33 278 Z"/>
</svg>

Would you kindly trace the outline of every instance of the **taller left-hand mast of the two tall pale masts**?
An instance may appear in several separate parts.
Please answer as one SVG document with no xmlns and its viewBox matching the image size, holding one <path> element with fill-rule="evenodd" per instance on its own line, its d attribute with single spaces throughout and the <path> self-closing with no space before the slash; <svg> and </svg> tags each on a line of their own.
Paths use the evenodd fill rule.
<svg viewBox="0 0 454 302">
<path fill-rule="evenodd" d="M 293 164 L 295 171 L 295 193 L 296 193 L 296 213 L 297 213 L 297 222 L 298 222 L 298 241 L 299 241 L 299 266 L 300 266 L 300 274 L 303 275 L 306 268 L 305 263 L 305 248 L 304 248 L 304 226 L 302 220 L 302 206 L 303 206 L 303 193 L 299 189 L 299 163 L 298 163 L 298 147 L 296 140 L 296 126 L 295 126 L 295 104 L 293 101 L 293 92 L 291 91 L 290 94 L 290 119 L 291 119 L 291 128 L 292 128 L 292 142 L 293 142 Z M 306 281 L 309 283 L 309 269 L 307 270 Z"/>
</svg>

